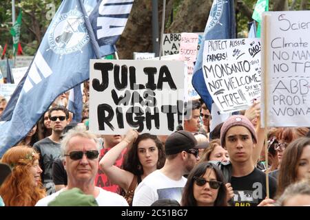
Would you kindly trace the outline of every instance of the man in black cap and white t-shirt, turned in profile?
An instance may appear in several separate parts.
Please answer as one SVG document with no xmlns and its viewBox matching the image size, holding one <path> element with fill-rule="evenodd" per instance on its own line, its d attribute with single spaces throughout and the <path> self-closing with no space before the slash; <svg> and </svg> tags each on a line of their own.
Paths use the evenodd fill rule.
<svg viewBox="0 0 310 220">
<path fill-rule="evenodd" d="M 158 199 L 180 202 L 188 174 L 198 157 L 196 138 L 189 131 L 176 131 L 165 142 L 166 162 L 163 168 L 147 175 L 134 192 L 132 206 L 151 206 Z"/>
</svg>

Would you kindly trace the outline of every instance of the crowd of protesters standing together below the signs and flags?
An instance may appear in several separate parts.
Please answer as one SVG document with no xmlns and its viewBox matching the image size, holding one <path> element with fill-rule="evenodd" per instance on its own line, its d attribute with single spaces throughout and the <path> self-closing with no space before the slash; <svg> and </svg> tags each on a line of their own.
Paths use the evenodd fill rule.
<svg viewBox="0 0 310 220">
<path fill-rule="evenodd" d="M 0 204 L 310 205 L 309 128 L 269 128 L 266 163 L 259 102 L 212 131 L 209 109 L 192 100 L 184 126 L 169 136 L 134 129 L 126 135 L 94 135 L 88 131 L 88 94 L 85 89 L 83 122 L 72 122 L 68 93 L 61 94 L 28 135 L 6 151 L 1 162 L 12 173 L 0 186 Z M 1 110 L 5 107 L 1 98 Z M 81 202 L 70 203 L 74 197 Z"/>
</svg>

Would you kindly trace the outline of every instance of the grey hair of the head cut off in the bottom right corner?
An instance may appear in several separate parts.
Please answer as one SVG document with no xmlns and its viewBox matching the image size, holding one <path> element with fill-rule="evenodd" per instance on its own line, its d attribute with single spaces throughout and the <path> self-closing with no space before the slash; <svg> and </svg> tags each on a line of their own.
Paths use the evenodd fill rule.
<svg viewBox="0 0 310 220">
<path fill-rule="evenodd" d="M 298 181 L 297 183 L 287 186 L 283 194 L 276 201 L 276 204 L 278 206 L 283 206 L 285 204 L 285 201 L 287 201 L 287 199 L 291 199 L 291 197 L 295 195 L 310 195 L 309 177 L 307 177 L 302 181 Z"/>
</svg>

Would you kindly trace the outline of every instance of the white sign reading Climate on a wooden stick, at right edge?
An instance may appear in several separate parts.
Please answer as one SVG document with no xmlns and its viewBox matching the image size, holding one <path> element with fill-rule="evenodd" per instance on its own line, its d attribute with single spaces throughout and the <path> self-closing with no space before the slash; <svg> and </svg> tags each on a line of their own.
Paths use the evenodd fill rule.
<svg viewBox="0 0 310 220">
<path fill-rule="evenodd" d="M 262 124 L 310 126 L 309 36 L 310 11 L 263 14 Z"/>
</svg>

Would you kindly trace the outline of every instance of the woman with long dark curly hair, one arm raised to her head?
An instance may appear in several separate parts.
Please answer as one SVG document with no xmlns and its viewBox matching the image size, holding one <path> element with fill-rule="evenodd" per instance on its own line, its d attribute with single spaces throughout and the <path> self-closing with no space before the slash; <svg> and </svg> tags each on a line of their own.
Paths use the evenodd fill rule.
<svg viewBox="0 0 310 220">
<path fill-rule="evenodd" d="M 114 163 L 126 147 L 128 150 L 122 168 L 118 168 Z M 122 188 L 121 194 L 131 206 L 136 186 L 149 173 L 162 168 L 165 164 L 164 152 L 163 144 L 156 135 L 149 133 L 138 135 L 137 131 L 131 129 L 119 144 L 103 156 L 99 165 L 105 175 Z"/>
</svg>

